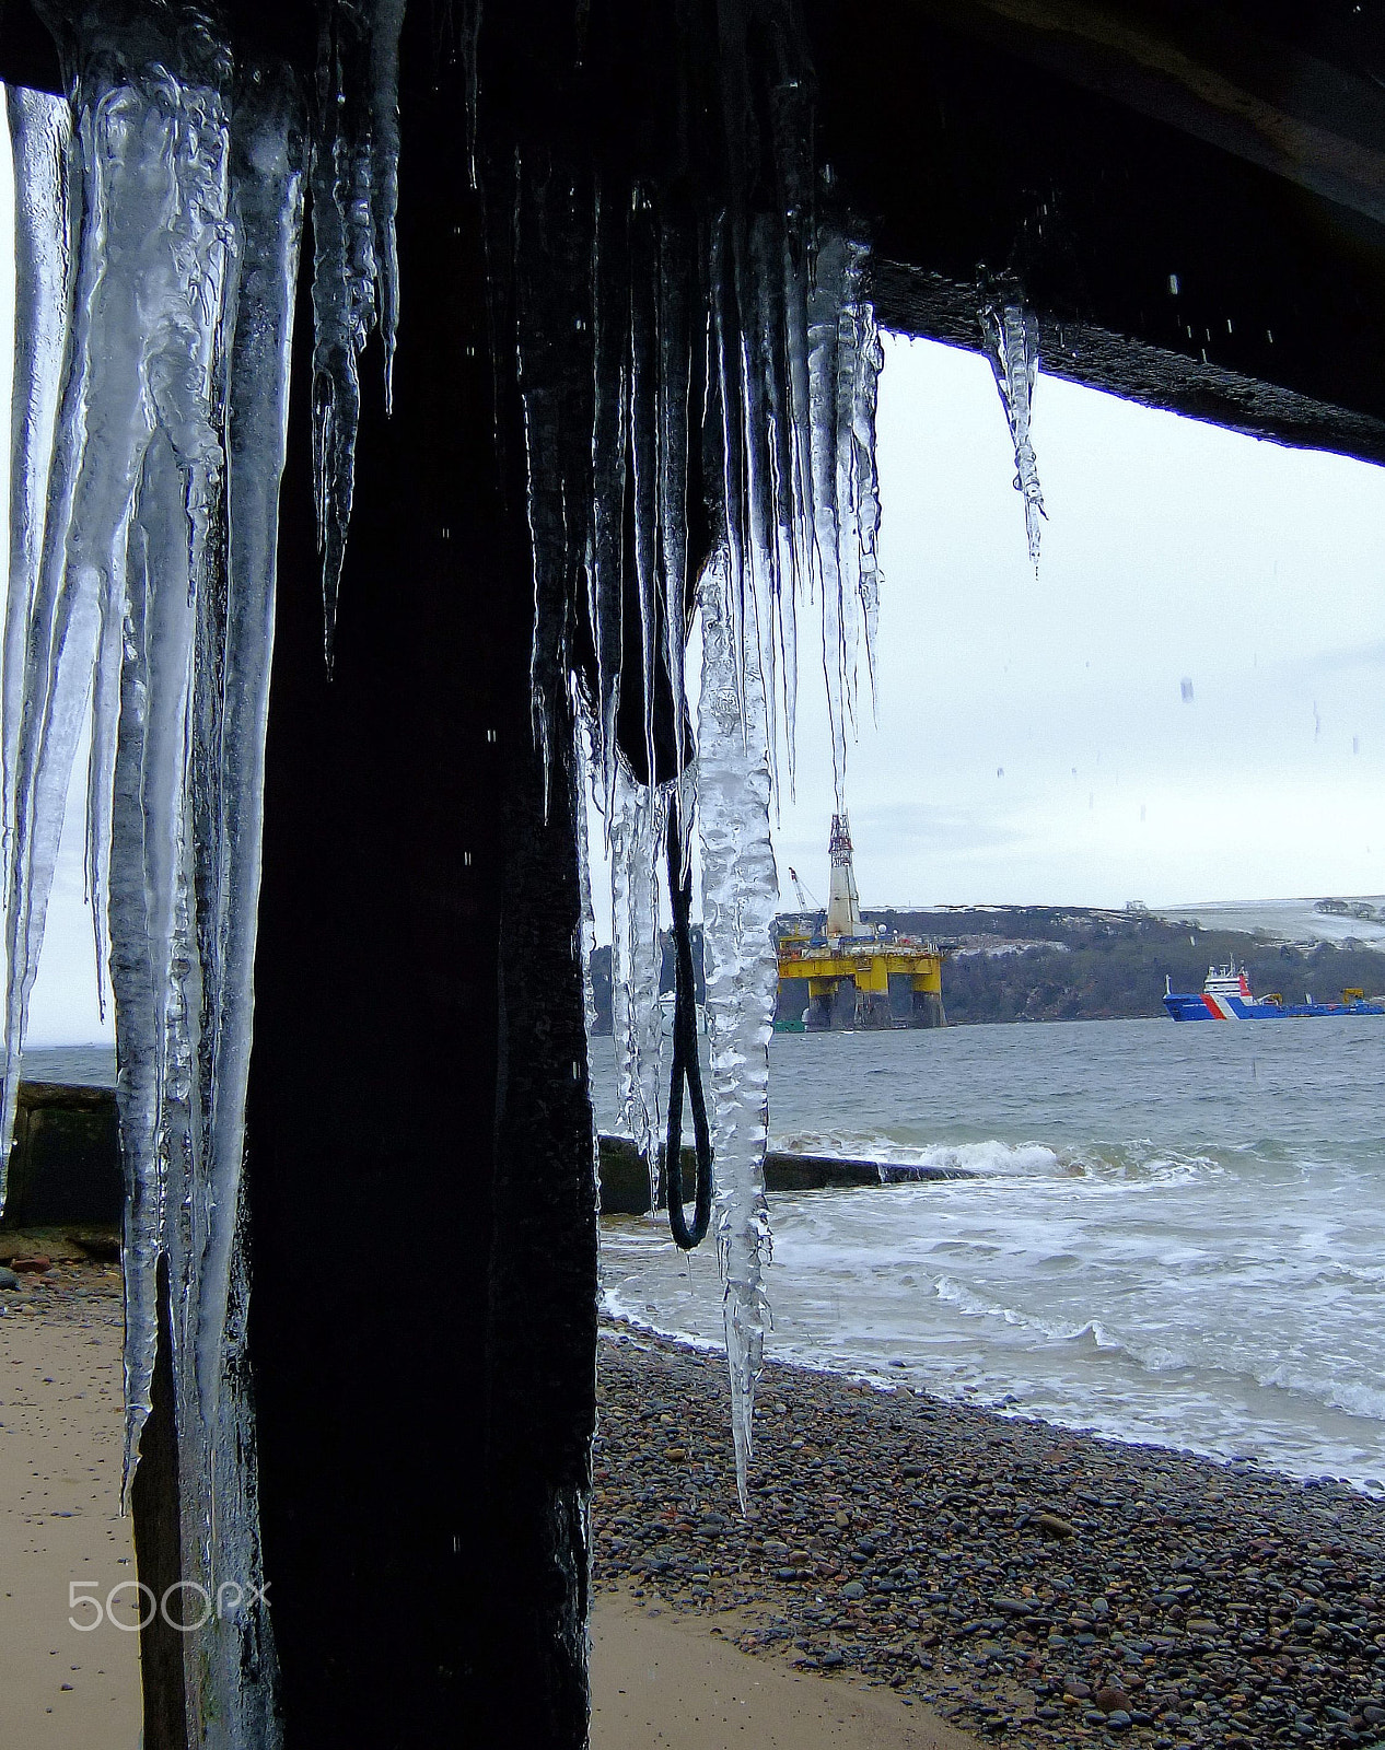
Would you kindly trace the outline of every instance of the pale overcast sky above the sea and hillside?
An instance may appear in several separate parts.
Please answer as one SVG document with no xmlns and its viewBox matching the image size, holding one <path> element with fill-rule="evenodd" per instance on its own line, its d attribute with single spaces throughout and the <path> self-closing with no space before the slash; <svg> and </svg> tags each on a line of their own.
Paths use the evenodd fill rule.
<svg viewBox="0 0 1385 1750">
<path fill-rule="evenodd" d="M 847 756 L 863 903 L 1385 887 L 1385 472 L 1049 378 L 1035 446 L 1038 578 L 989 368 L 889 341 L 879 723 Z M 832 816 L 812 649 L 800 672 L 788 903 L 788 864 L 825 901 Z M 109 1032 L 89 943 L 68 831 L 35 1043 Z"/>
</svg>

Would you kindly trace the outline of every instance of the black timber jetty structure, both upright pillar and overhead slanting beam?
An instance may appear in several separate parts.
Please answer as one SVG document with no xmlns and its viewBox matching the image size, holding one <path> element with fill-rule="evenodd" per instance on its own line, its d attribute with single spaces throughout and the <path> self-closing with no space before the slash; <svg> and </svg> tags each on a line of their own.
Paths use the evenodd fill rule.
<svg viewBox="0 0 1385 1750">
<path fill-rule="evenodd" d="M 68 16 L 109 14 L 116 30 L 142 4 L 39 10 L 65 40 Z M 56 91 L 39 10 L 0 9 L 0 75 Z M 504 10 L 534 52 L 480 100 L 518 114 L 541 158 L 569 119 L 552 49 L 567 10 Z M 615 138 L 676 38 L 622 28 L 623 5 L 580 10 L 606 24 L 587 52 L 608 58 Z M 229 12 L 233 40 L 312 80 L 313 7 Z M 819 158 L 874 234 L 888 326 L 977 348 L 982 262 L 1023 282 L 1049 371 L 1385 460 L 1374 9 L 805 12 Z M 567 952 L 581 812 L 571 742 L 550 744 L 545 770 L 532 733 L 525 432 L 489 301 L 496 231 L 464 170 L 471 93 L 452 9 L 410 5 L 401 68 L 396 410 L 387 420 L 378 392 L 364 397 L 333 681 L 305 346 L 284 485 L 242 1241 L 264 1570 L 292 1750 L 574 1750 L 597 1346 L 581 966 Z M 306 304 L 305 275 L 305 332 Z M 140 1577 L 161 1591 L 179 1573 L 180 1484 L 158 1390 L 142 1451 Z M 201 1741 L 158 1619 L 144 1682 L 145 1750 Z"/>
</svg>

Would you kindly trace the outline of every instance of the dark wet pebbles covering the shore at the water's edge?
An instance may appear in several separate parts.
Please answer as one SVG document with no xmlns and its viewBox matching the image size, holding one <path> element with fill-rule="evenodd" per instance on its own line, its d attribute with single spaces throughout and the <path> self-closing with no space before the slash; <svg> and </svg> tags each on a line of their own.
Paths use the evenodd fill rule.
<svg viewBox="0 0 1385 1750">
<path fill-rule="evenodd" d="M 595 1587 L 1017 1745 L 1385 1741 L 1385 1507 L 606 1325 Z"/>
</svg>

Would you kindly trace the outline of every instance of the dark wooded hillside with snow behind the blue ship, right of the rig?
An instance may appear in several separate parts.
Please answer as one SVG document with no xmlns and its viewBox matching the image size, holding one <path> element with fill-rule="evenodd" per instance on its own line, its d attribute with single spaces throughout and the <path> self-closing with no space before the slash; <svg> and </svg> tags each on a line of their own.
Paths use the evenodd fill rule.
<svg viewBox="0 0 1385 1750">
<path fill-rule="evenodd" d="M 1367 996 L 1385 992 L 1385 952 L 1296 947 L 1262 931 L 1205 929 L 1142 912 L 1026 905 L 863 915 L 960 945 L 942 968 L 942 1001 L 954 1026 L 1163 1015 L 1166 973 L 1175 990 L 1201 990 L 1208 966 L 1224 966 L 1233 954 L 1259 994 L 1280 990 L 1285 1001 L 1310 990 L 1334 999 L 1352 985 Z"/>
</svg>

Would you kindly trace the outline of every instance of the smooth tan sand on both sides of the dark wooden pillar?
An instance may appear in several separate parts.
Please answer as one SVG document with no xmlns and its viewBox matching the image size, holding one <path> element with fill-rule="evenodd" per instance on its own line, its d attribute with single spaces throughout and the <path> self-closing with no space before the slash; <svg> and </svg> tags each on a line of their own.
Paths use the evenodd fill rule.
<svg viewBox="0 0 1385 1750">
<path fill-rule="evenodd" d="M 32 1250 L 32 1248 L 21 1248 Z M 0 1745 L 135 1750 L 135 1578 L 121 1484 L 119 1274 L 61 1262 L 0 1290 Z M 95 1598 L 93 1606 L 70 1601 Z M 592 1622 L 594 1750 L 965 1750 L 895 1696 L 753 1659 L 748 1624 L 611 1589 Z"/>
</svg>

